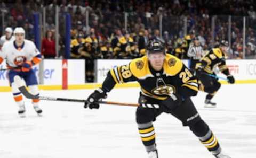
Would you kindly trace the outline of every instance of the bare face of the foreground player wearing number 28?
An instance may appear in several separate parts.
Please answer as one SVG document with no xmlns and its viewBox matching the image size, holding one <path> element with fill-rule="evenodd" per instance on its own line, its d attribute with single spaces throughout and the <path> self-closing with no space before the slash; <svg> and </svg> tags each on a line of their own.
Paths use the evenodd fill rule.
<svg viewBox="0 0 256 158">
<path fill-rule="evenodd" d="M 150 53 L 148 55 L 149 62 L 156 71 L 160 71 L 163 68 L 164 58 L 165 55 L 163 54 L 163 52 Z"/>
</svg>

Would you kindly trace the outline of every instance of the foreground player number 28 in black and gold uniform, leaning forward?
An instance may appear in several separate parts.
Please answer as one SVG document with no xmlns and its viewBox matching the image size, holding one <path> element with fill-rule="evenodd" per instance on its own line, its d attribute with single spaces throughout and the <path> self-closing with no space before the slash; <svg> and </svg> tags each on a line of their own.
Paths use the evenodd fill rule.
<svg viewBox="0 0 256 158">
<path fill-rule="evenodd" d="M 139 106 L 136 111 L 139 134 L 148 157 L 158 158 L 153 121 L 166 112 L 178 118 L 183 126 L 189 126 L 215 157 L 230 158 L 222 153 L 217 138 L 202 120 L 190 99 L 190 96 L 195 96 L 198 91 L 195 76 L 180 59 L 165 54 L 164 46 L 159 41 L 149 42 L 146 56 L 133 59 L 128 65 L 111 69 L 102 87 L 89 96 L 89 104 L 85 104 L 85 108 L 98 109 L 98 101 L 106 98 L 106 93 L 110 92 L 115 84 L 130 81 L 140 83 L 140 104 L 159 105 L 159 109 Z"/>
</svg>

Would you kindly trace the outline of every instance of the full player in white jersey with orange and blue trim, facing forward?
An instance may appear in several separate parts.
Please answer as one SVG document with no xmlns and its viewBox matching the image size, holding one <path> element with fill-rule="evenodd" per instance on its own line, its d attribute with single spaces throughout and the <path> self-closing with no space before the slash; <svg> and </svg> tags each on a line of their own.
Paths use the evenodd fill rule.
<svg viewBox="0 0 256 158">
<path fill-rule="evenodd" d="M 13 82 L 13 78 L 16 75 L 20 76 L 26 82 L 30 92 L 34 95 L 39 95 L 37 78 L 32 66 L 41 62 L 41 54 L 37 50 L 34 42 L 25 39 L 25 30 L 23 28 L 15 28 L 14 37 L 14 41 L 4 43 L 2 52 L 0 52 L 0 64 L 5 59 L 7 67 L 10 68 L 8 77 L 14 100 L 18 104 L 19 115 L 25 117 L 25 104 L 22 100 L 21 92 Z M 38 115 L 41 115 L 42 110 L 38 107 L 39 100 L 33 99 L 32 103 L 35 111 Z"/>
</svg>

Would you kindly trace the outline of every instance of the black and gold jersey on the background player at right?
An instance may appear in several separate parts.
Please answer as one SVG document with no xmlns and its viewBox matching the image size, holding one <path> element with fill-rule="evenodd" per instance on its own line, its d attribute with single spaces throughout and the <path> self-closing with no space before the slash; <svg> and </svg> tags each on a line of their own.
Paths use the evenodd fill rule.
<svg viewBox="0 0 256 158">
<path fill-rule="evenodd" d="M 214 68 L 219 67 L 220 72 L 225 75 L 229 75 L 225 58 L 226 55 L 220 50 L 220 48 L 213 48 L 200 59 L 200 62 L 196 64 L 196 69 L 202 67 L 205 72 L 214 74 Z"/>
</svg>

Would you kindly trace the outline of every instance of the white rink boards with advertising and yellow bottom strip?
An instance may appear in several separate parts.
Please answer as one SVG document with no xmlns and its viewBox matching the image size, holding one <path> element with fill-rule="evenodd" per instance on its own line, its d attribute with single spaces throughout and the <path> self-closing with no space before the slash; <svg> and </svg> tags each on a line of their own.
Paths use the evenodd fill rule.
<svg viewBox="0 0 256 158">
<path fill-rule="evenodd" d="M 107 76 L 109 69 L 128 64 L 131 59 L 99 59 L 95 60 L 95 81 L 97 83 L 85 83 L 85 60 L 69 59 L 68 64 L 63 65 L 60 59 L 44 59 L 39 66 L 34 67 L 38 78 L 43 80 L 39 87 L 42 90 L 61 90 L 64 81 L 68 84 L 68 89 L 94 89 L 99 87 Z M 186 66 L 189 65 L 188 60 L 183 60 Z M 236 84 L 256 83 L 256 60 L 227 60 L 227 66 L 232 75 L 236 79 Z M 0 65 L 0 68 L 5 68 L 5 63 Z M 63 76 L 63 70 L 67 69 L 67 76 Z M 41 72 L 41 73 L 39 73 Z M 40 77 L 39 77 L 40 76 Z M 225 77 L 225 75 L 218 74 Z M 222 84 L 227 84 L 226 81 L 220 80 Z M 138 83 L 128 83 L 117 85 L 117 87 L 138 87 Z M 7 71 L 0 71 L 0 91 L 10 91 L 9 82 L 7 79 Z"/>
</svg>

